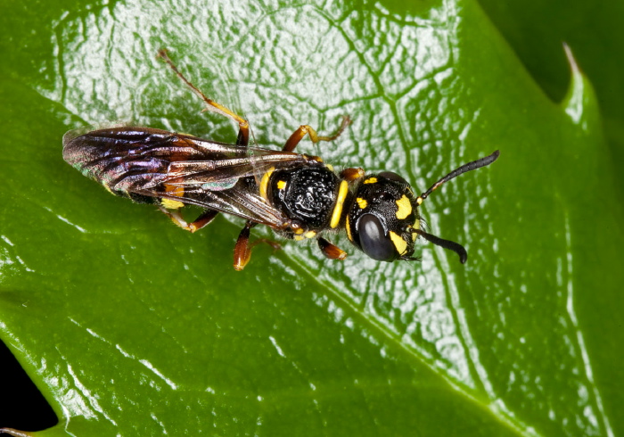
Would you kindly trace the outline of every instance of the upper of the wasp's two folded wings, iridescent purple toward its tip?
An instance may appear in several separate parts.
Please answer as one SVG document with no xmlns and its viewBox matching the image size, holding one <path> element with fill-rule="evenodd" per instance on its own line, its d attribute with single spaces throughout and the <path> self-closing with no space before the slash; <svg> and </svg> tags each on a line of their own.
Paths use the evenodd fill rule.
<svg viewBox="0 0 624 437">
<path fill-rule="evenodd" d="M 132 192 L 162 183 L 222 190 L 310 160 L 299 153 L 218 143 L 153 128 L 109 128 L 63 138 L 63 157 L 111 191 Z M 137 186 L 138 185 L 140 186 Z"/>
</svg>

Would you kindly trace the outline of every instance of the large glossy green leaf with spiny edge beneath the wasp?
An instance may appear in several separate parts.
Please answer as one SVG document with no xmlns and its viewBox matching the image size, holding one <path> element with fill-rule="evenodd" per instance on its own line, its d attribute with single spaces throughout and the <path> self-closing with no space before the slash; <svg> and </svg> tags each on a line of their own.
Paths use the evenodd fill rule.
<svg viewBox="0 0 624 437">
<path fill-rule="evenodd" d="M 579 70 L 554 102 L 472 0 L 0 12 L 0 335 L 60 417 L 37 435 L 624 429 L 619 161 Z M 190 235 L 82 177 L 62 161 L 70 128 L 234 140 L 160 47 L 259 144 L 349 114 L 300 152 L 420 190 L 500 149 L 422 208 L 466 265 L 427 243 L 422 263 L 380 263 L 340 236 L 342 263 L 261 244 L 237 273 L 239 220 Z"/>
</svg>

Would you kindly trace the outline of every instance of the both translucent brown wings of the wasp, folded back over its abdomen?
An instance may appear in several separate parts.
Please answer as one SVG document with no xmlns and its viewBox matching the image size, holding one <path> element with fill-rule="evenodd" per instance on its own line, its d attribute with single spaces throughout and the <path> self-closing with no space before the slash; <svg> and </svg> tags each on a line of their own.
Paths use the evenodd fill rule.
<svg viewBox="0 0 624 437">
<path fill-rule="evenodd" d="M 283 227 L 288 219 L 259 195 L 255 175 L 310 160 L 153 128 L 70 132 L 63 137 L 63 158 L 113 194 L 170 199 L 269 227 Z"/>
</svg>

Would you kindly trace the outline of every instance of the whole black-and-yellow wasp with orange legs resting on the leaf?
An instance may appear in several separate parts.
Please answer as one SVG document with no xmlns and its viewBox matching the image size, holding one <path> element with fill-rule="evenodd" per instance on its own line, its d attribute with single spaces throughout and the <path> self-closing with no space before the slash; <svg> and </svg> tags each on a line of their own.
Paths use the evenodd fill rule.
<svg viewBox="0 0 624 437">
<path fill-rule="evenodd" d="M 349 241 L 374 260 L 419 260 L 415 241 L 421 236 L 455 251 L 461 263 L 464 247 L 423 230 L 418 207 L 436 188 L 466 171 L 487 166 L 498 151 L 472 161 L 442 177 L 418 196 L 407 181 L 391 171 L 365 174 L 360 168 L 337 172 L 313 155 L 293 152 L 304 136 L 313 143 L 333 141 L 350 123 L 344 117 L 332 136 L 319 136 L 308 125 L 297 128 L 281 151 L 250 143 L 250 125 L 225 106 L 210 100 L 177 69 L 165 50 L 159 51 L 194 94 L 216 112 L 238 124 L 235 144 L 156 128 L 104 128 L 63 136 L 63 158 L 84 176 L 112 194 L 134 202 L 152 203 L 178 227 L 195 232 L 219 212 L 246 220 L 234 246 L 234 268 L 249 262 L 250 230 L 266 225 L 287 239 L 316 239 L 324 256 L 344 260 L 345 251 L 325 239 L 345 230 Z M 180 209 L 203 209 L 193 222 Z"/>
</svg>

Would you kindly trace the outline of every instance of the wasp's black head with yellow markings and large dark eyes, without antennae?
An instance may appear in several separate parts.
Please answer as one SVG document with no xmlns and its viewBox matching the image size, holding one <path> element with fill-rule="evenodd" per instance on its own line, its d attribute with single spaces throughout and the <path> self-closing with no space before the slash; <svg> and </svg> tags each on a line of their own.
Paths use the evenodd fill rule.
<svg viewBox="0 0 624 437">
<path fill-rule="evenodd" d="M 374 260 L 408 259 L 418 227 L 416 197 L 403 177 L 384 171 L 357 186 L 347 218 L 347 235 Z"/>
</svg>

